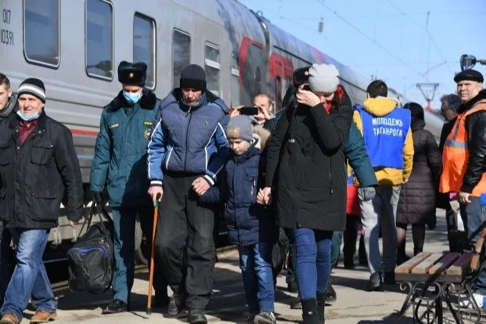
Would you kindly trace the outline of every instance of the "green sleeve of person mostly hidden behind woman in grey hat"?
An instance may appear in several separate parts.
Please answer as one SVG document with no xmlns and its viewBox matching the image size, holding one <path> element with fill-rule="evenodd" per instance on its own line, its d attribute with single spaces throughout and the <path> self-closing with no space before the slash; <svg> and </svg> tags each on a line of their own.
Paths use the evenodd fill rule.
<svg viewBox="0 0 486 324">
<path fill-rule="evenodd" d="M 378 185 L 375 171 L 369 160 L 368 152 L 364 146 L 364 139 L 355 123 L 351 123 L 349 135 L 343 146 L 344 155 L 360 182 L 360 187 Z"/>
</svg>

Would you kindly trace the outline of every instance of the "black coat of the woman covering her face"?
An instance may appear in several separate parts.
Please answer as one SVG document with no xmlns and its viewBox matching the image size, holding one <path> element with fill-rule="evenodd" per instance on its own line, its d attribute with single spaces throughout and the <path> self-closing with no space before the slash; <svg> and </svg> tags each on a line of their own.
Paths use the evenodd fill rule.
<svg viewBox="0 0 486 324">
<path fill-rule="evenodd" d="M 346 162 L 342 145 L 353 118 L 351 100 L 339 86 L 340 102 L 330 110 L 296 105 L 285 110 L 267 153 L 266 187 L 276 198 L 283 228 L 344 230 Z"/>
</svg>

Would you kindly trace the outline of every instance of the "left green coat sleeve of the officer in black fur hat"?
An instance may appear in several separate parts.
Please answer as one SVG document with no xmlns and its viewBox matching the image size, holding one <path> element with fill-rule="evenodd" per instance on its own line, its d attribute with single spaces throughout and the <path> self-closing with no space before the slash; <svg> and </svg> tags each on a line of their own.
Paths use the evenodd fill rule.
<svg viewBox="0 0 486 324">
<path fill-rule="evenodd" d="M 104 113 L 101 114 L 97 144 L 94 147 L 90 176 L 91 191 L 103 191 L 106 185 L 108 166 L 110 165 L 111 138 L 104 116 Z"/>
</svg>

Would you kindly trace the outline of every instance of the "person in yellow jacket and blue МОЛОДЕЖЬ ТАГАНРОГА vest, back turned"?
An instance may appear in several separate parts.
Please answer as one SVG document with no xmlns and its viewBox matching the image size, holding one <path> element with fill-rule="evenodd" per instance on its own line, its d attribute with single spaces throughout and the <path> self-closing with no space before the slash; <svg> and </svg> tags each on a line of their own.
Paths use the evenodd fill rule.
<svg viewBox="0 0 486 324">
<path fill-rule="evenodd" d="M 388 87 L 374 80 L 367 87 L 368 99 L 355 105 L 353 120 L 363 135 L 378 188 L 371 201 L 363 199 L 360 189 L 361 221 L 364 248 L 371 276 L 369 291 L 382 288 L 382 257 L 378 246 L 378 224 L 383 229 L 383 280 L 394 284 L 396 266 L 396 207 L 400 186 L 412 172 L 413 142 L 410 130 L 410 110 L 398 108 L 394 99 L 387 98 Z"/>
</svg>

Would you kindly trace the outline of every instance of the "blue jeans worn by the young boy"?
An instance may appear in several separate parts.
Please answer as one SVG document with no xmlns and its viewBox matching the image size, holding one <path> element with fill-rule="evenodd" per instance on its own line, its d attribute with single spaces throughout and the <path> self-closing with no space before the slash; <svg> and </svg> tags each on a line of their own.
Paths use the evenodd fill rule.
<svg viewBox="0 0 486 324">
<path fill-rule="evenodd" d="M 274 312 L 274 271 L 271 266 L 273 244 L 260 242 L 240 246 L 244 297 L 251 313 Z"/>
</svg>

